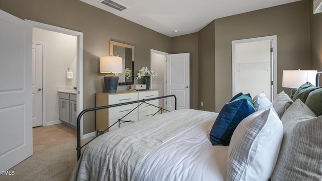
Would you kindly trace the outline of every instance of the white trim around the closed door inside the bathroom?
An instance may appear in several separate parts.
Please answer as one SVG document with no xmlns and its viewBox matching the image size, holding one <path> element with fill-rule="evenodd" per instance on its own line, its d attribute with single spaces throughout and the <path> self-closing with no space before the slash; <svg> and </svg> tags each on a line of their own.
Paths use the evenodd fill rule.
<svg viewBox="0 0 322 181">
<path fill-rule="evenodd" d="M 46 91 L 43 90 L 43 87 L 46 87 L 46 43 L 32 41 L 32 44 L 41 45 L 42 49 L 42 125 L 46 126 Z"/>
</svg>

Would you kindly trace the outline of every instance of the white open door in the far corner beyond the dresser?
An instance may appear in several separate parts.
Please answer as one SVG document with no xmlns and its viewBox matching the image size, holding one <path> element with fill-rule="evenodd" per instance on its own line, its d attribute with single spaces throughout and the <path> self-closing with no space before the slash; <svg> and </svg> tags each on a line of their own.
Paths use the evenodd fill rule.
<svg viewBox="0 0 322 181">
<path fill-rule="evenodd" d="M 176 95 L 177 110 L 190 108 L 189 53 L 167 55 L 167 95 Z M 175 99 L 167 98 L 167 110 L 175 110 Z"/>
</svg>

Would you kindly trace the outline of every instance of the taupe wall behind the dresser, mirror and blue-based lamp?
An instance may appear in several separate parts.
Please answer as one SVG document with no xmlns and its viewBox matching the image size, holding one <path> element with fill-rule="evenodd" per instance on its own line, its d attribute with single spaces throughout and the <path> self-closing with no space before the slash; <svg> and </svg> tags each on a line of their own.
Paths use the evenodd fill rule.
<svg viewBox="0 0 322 181">
<path fill-rule="evenodd" d="M 135 46 L 136 72 L 142 66 L 150 67 L 150 49 L 171 52 L 170 37 L 78 0 L 0 0 L 0 9 L 21 19 L 84 33 L 84 109 L 95 106 L 95 93 L 104 92 L 99 57 L 109 55 L 110 40 Z M 94 130 L 95 114 L 85 115 L 84 133 Z"/>
</svg>

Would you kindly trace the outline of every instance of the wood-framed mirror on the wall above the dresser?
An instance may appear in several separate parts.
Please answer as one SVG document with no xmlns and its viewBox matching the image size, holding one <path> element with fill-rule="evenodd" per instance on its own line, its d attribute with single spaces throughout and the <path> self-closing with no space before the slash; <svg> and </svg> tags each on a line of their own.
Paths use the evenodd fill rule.
<svg viewBox="0 0 322 181">
<path fill-rule="evenodd" d="M 134 46 L 110 41 L 110 56 L 118 56 L 123 59 L 123 73 L 119 73 L 118 85 L 130 85 L 134 83 Z"/>
</svg>

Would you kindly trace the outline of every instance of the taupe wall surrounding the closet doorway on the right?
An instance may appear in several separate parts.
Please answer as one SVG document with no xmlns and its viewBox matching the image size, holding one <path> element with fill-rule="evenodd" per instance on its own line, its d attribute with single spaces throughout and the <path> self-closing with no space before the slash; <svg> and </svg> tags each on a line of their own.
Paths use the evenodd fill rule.
<svg viewBox="0 0 322 181">
<path fill-rule="evenodd" d="M 209 37 L 212 37 L 212 34 L 213 32 L 208 32 Z M 290 92 L 289 89 L 282 88 L 282 70 L 310 69 L 310 1 L 304 0 L 216 19 L 214 20 L 214 34 L 215 58 L 212 61 L 215 65 L 211 64 L 211 66 L 215 68 L 215 75 L 209 78 L 214 79 L 215 91 L 209 89 L 209 85 L 199 86 L 199 90 L 204 90 L 203 94 L 199 91 L 200 98 L 204 96 L 210 97 L 211 99 L 207 99 L 209 101 L 215 100 L 215 107 L 205 107 L 206 110 L 219 112 L 222 106 L 231 99 L 232 40 L 277 35 L 278 92 L 282 89 L 285 89 L 287 93 Z M 204 46 L 200 45 L 199 51 L 203 48 Z M 206 56 L 201 52 L 199 55 Z M 208 52 L 208 55 L 213 56 L 213 52 Z M 203 62 L 208 64 L 206 62 L 209 62 L 209 59 L 200 57 L 199 63 Z M 204 102 L 204 106 L 208 104 Z"/>
</svg>

